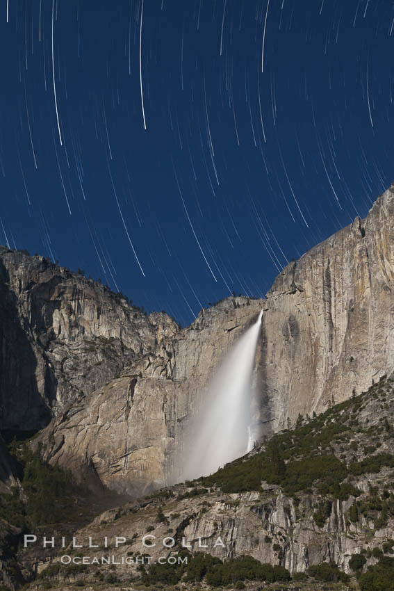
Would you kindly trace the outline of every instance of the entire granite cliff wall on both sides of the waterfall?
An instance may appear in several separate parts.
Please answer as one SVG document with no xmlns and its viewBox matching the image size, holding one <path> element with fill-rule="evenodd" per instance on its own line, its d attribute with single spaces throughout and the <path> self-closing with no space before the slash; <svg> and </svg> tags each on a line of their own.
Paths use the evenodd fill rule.
<svg viewBox="0 0 394 591">
<path fill-rule="evenodd" d="M 120 492 L 170 484 L 190 414 L 209 404 L 206 384 L 261 307 L 261 432 L 350 398 L 394 369 L 393 234 L 391 187 L 365 220 L 291 262 L 265 300 L 227 298 L 183 330 L 42 257 L 3 249 L 2 424 L 37 429 L 53 416 L 38 439 L 51 462 L 90 469 Z"/>
</svg>

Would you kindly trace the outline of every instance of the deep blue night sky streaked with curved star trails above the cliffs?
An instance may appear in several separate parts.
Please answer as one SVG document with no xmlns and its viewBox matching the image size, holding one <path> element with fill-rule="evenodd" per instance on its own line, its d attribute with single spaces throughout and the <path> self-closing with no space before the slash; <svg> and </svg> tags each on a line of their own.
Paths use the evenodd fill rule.
<svg viewBox="0 0 394 591">
<path fill-rule="evenodd" d="M 1 0 L 0 243 L 186 325 L 394 179 L 388 0 Z"/>
</svg>

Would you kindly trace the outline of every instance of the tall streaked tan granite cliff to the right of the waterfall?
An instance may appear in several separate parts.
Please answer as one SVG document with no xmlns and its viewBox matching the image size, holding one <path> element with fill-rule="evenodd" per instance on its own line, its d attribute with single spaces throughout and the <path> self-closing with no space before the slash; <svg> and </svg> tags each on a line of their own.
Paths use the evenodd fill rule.
<svg viewBox="0 0 394 591">
<path fill-rule="evenodd" d="M 267 294 L 259 369 L 274 429 L 394 369 L 394 185 Z"/>
</svg>

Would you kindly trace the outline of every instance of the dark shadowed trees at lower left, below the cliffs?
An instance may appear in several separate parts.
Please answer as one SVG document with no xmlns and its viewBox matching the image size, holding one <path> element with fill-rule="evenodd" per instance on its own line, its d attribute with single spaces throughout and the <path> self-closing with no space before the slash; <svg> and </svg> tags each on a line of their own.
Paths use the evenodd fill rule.
<svg viewBox="0 0 394 591">
<path fill-rule="evenodd" d="M 9 448 L 19 467 L 22 486 L 13 487 L 11 494 L 0 494 L 0 589 L 2 578 L 12 581 L 13 588 L 24 581 L 17 558 L 24 534 L 71 535 L 122 501 L 112 491 L 95 496 L 88 487 L 76 483 L 71 472 L 44 462 L 40 450 L 31 451 L 27 442 L 20 444 L 14 439 Z M 40 553 L 40 548 L 35 552 Z"/>
</svg>

